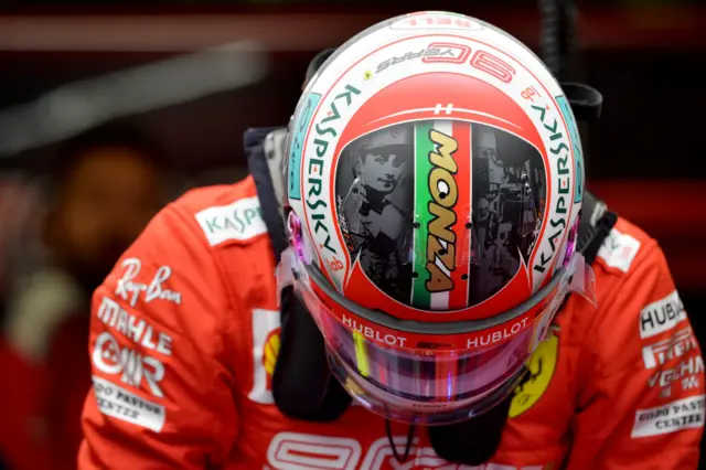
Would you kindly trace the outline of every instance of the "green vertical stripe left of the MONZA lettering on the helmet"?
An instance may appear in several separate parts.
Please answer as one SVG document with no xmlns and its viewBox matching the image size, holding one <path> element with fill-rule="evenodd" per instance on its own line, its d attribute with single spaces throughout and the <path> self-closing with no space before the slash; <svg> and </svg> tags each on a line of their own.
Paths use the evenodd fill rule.
<svg viewBox="0 0 706 470">
<path fill-rule="evenodd" d="M 411 290 L 411 305 L 419 309 L 429 309 L 431 293 L 427 290 L 426 282 L 429 279 L 427 271 L 427 236 L 429 234 L 429 173 L 431 162 L 429 153 L 435 150 L 435 143 L 429 133 L 434 129 L 434 122 L 426 121 L 415 125 L 415 222 L 419 228 L 415 229 L 415 273 Z"/>
</svg>

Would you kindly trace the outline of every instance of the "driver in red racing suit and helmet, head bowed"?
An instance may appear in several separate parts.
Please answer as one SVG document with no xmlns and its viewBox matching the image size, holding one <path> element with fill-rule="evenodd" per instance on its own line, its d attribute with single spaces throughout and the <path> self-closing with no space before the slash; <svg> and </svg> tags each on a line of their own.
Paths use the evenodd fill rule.
<svg viewBox="0 0 706 470">
<path fill-rule="evenodd" d="M 699 345 L 541 61 L 417 13 L 322 62 L 96 290 L 79 469 L 697 468 Z"/>
</svg>

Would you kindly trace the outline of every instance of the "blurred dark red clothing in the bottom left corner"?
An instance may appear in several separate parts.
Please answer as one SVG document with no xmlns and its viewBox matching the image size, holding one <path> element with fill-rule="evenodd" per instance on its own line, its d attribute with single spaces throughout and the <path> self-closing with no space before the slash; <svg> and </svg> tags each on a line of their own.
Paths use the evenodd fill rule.
<svg viewBox="0 0 706 470">
<path fill-rule="evenodd" d="M 81 413 L 90 387 L 88 322 L 62 324 L 43 364 L 18 354 L 0 337 L 0 453 L 12 470 L 73 470 L 82 440 Z"/>
</svg>

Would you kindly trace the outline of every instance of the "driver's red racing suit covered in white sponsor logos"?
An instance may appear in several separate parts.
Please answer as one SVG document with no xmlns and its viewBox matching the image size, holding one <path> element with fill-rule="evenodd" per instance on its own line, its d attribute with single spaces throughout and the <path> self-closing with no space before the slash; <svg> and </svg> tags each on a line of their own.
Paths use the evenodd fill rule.
<svg viewBox="0 0 706 470">
<path fill-rule="evenodd" d="M 274 405 L 275 264 L 254 181 L 161 211 L 93 299 L 93 389 L 81 470 L 695 469 L 704 363 L 654 239 L 619 220 L 600 249 L 598 309 L 571 296 L 515 392 L 489 463 L 445 462 L 424 428 L 398 463 L 384 419 L 332 424 Z M 404 453 L 407 427 L 393 424 Z M 469 442 L 473 445 L 473 442 Z"/>
</svg>

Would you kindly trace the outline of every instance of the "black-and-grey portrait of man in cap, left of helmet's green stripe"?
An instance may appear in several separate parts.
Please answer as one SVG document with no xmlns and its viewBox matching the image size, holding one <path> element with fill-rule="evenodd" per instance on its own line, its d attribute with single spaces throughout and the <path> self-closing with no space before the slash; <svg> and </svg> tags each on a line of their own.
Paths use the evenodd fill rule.
<svg viewBox="0 0 706 470">
<path fill-rule="evenodd" d="M 351 258 L 382 291 L 406 302 L 411 288 L 414 127 L 394 126 L 351 142 L 339 160 L 335 195 Z M 350 171 L 346 171 L 350 167 Z"/>
</svg>

